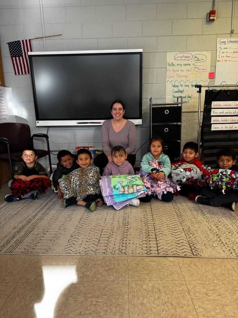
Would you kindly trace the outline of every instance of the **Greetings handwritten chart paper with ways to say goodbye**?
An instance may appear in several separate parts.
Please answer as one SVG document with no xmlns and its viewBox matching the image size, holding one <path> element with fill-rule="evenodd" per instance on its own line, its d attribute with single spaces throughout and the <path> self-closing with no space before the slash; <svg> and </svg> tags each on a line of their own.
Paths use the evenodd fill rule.
<svg viewBox="0 0 238 318">
<path fill-rule="evenodd" d="M 183 97 L 183 111 L 198 111 L 196 84 L 208 85 L 211 52 L 169 52 L 167 53 L 166 103 Z M 205 90 L 202 90 L 201 110 Z"/>
</svg>

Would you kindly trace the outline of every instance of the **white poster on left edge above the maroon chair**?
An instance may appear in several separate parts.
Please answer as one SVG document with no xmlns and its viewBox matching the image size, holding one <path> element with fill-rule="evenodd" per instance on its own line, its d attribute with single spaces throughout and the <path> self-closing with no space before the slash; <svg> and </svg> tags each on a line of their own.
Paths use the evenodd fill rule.
<svg viewBox="0 0 238 318">
<path fill-rule="evenodd" d="M 6 122 L 12 114 L 13 97 L 11 87 L 0 86 L 0 123 Z"/>
</svg>

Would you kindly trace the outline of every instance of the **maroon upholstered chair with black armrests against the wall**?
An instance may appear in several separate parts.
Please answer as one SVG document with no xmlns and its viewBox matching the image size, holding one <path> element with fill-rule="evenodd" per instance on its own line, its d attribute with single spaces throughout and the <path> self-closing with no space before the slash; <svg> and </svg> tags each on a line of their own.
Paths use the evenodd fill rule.
<svg viewBox="0 0 238 318">
<path fill-rule="evenodd" d="M 47 150 L 36 149 L 38 158 L 49 157 L 50 173 L 52 173 L 49 136 L 46 134 L 30 135 L 30 127 L 26 124 L 16 122 L 6 122 L 0 124 L 0 160 L 10 162 L 11 177 L 13 179 L 13 162 L 22 161 L 22 151 L 28 147 L 33 147 L 33 138 L 45 138 Z"/>
</svg>

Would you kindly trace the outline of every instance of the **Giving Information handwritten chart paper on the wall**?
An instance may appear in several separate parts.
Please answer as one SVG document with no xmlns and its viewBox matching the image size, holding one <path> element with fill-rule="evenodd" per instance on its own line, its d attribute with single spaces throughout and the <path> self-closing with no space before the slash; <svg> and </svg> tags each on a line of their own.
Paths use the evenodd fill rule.
<svg viewBox="0 0 238 318">
<path fill-rule="evenodd" d="M 238 82 L 238 38 L 217 39 L 215 85 Z"/>
</svg>

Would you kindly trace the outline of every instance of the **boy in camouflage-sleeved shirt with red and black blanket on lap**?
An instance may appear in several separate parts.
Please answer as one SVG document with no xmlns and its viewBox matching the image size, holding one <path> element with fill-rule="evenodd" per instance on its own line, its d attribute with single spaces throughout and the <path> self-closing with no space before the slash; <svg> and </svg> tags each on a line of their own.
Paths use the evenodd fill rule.
<svg viewBox="0 0 238 318">
<path fill-rule="evenodd" d="M 23 162 L 15 171 L 14 180 L 8 183 L 12 194 L 5 197 L 5 202 L 18 201 L 24 198 L 37 200 L 37 191 L 45 193 L 51 185 L 47 172 L 36 161 L 34 148 L 24 149 L 22 152 Z"/>
</svg>

